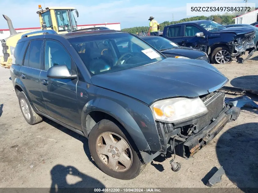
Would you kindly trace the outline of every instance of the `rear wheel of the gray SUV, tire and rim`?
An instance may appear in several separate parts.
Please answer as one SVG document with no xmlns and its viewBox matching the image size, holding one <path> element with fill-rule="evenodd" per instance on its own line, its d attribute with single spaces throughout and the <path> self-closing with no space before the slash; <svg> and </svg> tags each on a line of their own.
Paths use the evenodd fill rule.
<svg viewBox="0 0 258 193">
<path fill-rule="evenodd" d="M 21 112 L 24 116 L 24 119 L 27 121 L 27 123 L 29 123 L 30 125 L 34 125 L 42 121 L 42 116 L 35 113 L 24 92 L 19 93 L 18 100 L 19 100 Z M 27 113 L 29 113 L 29 116 Z"/>
</svg>

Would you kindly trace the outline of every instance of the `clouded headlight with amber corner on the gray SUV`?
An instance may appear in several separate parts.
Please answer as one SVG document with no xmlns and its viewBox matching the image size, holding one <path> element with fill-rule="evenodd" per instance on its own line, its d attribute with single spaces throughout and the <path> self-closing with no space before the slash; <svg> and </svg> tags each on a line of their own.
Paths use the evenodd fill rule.
<svg viewBox="0 0 258 193">
<path fill-rule="evenodd" d="M 208 112 L 200 98 L 171 98 L 151 105 L 155 119 L 175 123 Z"/>
</svg>

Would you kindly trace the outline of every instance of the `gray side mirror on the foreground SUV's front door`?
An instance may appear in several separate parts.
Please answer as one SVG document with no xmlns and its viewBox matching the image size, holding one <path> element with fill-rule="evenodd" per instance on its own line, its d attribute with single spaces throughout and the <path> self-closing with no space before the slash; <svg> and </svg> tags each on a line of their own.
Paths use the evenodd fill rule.
<svg viewBox="0 0 258 193">
<path fill-rule="evenodd" d="M 76 74 L 73 74 L 66 65 L 52 66 L 47 71 L 47 77 L 57 79 L 75 79 Z"/>
</svg>

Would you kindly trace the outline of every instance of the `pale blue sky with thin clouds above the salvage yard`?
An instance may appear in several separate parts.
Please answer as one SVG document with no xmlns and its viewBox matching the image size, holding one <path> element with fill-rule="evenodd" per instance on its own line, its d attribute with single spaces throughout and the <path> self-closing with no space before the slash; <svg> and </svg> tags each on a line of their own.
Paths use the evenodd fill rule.
<svg viewBox="0 0 258 193">
<path fill-rule="evenodd" d="M 194 3 L 206 3 L 207 0 L 195 0 Z M 243 0 L 211 0 L 213 3 L 242 3 Z M 192 0 L 0 0 L 0 29 L 8 25 L 2 14 L 13 22 L 14 28 L 39 27 L 36 12 L 38 5 L 42 8 L 50 6 L 71 6 L 77 8 L 79 17 L 75 18 L 78 25 L 95 23 L 121 23 L 121 29 L 137 26 L 148 26 L 148 19 L 153 16 L 159 23 L 180 20 L 186 17 L 186 3 Z M 257 0 L 249 0 L 256 3 Z"/>
</svg>

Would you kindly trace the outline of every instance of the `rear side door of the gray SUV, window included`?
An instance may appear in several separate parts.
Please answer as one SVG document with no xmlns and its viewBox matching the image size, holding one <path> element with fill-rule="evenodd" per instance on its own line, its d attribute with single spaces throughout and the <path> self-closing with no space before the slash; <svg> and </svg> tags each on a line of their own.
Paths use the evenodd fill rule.
<svg viewBox="0 0 258 193">
<path fill-rule="evenodd" d="M 27 48 L 23 66 L 20 68 L 20 80 L 24 84 L 27 95 L 35 107 L 45 113 L 46 108 L 41 94 L 39 76 L 40 76 L 40 57 L 43 40 L 30 41 Z"/>
</svg>

